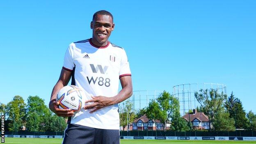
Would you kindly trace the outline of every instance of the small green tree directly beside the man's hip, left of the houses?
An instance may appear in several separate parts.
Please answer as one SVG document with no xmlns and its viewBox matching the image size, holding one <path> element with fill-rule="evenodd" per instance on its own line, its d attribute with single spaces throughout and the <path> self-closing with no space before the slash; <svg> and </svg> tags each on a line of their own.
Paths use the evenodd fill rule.
<svg viewBox="0 0 256 144">
<path fill-rule="evenodd" d="M 130 101 L 125 101 L 122 106 L 119 105 L 120 126 L 123 127 L 123 130 L 127 126 L 127 122 L 132 123 L 136 117 L 135 113 L 132 112 L 132 107 L 133 104 Z"/>
</svg>

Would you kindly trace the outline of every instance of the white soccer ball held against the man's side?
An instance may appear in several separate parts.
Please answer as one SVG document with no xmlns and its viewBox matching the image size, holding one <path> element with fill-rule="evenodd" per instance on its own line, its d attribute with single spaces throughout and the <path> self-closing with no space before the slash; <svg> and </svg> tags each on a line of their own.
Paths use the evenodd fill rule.
<svg viewBox="0 0 256 144">
<path fill-rule="evenodd" d="M 75 114 L 84 107 L 85 97 L 82 89 L 75 85 L 67 85 L 59 90 L 56 101 L 59 102 L 59 109 L 70 109 Z"/>
</svg>

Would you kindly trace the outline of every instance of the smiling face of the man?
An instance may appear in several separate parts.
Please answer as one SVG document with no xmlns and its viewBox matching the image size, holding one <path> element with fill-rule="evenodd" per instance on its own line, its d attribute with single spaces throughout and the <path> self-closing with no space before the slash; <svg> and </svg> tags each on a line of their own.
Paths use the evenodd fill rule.
<svg viewBox="0 0 256 144">
<path fill-rule="evenodd" d="M 91 22 L 92 42 L 97 46 L 107 45 L 108 37 L 114 30 L 114 23 L 111 16 L 96 15 Z"/>
</svg>

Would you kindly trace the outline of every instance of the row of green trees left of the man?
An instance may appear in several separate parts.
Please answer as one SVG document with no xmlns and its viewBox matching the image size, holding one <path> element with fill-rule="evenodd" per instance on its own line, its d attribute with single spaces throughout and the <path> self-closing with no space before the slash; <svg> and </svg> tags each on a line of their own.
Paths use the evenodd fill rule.
<svg viewBox="0 0 256 144">
<path fill-rule="evenodd" d="M 39 96 L 29 96 L 27 103 L 21 96 L 14 96 L 7 105 L 0 103 L 0 113 L 5 115 L 8 131 L 63 131 L 66 121 L 45 105 Z"/>
</svg>

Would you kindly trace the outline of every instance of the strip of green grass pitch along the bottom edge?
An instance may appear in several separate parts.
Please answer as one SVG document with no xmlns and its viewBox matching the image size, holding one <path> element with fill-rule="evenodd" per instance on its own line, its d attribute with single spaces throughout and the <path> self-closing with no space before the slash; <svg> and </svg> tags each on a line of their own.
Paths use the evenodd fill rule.
<svg viewBox="0 0 256 144">
<path fill-rule="evenodd" d="M 5 138 L 6 144 L 61 144 L 62 139 Z M 256 141 L 121 139 L 121 144 L 256 144 Z"/>
</svg>

